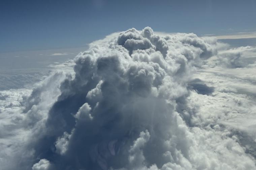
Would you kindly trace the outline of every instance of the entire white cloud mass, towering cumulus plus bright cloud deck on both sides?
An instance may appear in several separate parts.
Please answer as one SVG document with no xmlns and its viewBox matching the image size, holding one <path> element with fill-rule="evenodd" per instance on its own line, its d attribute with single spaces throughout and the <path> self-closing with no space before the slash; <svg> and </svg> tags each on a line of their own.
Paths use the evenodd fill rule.
<svg viewBox="0 0 256 170">
<path fill-rule="evenodd" d="M 256 168 L 254 47 L 149 27 L 89 46 L 33 90 L 0 93 L 4 170 Z"/>
</svg>

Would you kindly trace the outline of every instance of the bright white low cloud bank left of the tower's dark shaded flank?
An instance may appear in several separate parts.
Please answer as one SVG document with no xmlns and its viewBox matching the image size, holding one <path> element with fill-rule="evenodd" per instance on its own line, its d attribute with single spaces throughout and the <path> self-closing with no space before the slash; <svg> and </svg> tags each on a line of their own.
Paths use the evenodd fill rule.
<svg viewBox="0 0 256 170">
<path fill-rule="evenodd" d="M 40 133 L 49 109 L 60 94 L 59 86 L 64 78 L 65 72 L 55 71 L 36 83 L 33 89 L 0 91 L 2 169 L 32 168 L 34 150 L 29 143 L 35 140 L 34 132 Z"/>
</svg>

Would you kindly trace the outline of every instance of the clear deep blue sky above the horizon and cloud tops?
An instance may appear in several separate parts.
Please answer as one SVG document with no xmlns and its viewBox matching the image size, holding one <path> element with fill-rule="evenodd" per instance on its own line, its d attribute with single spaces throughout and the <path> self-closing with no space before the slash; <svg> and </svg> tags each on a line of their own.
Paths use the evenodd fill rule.
<svg viewBox="0 0 256 170">
<path fill-rule="evenodd" d="M 256 0 L 0 0 L 0 52 L 82 46 L 129 28 L 256 29 Z"/>
</svg>

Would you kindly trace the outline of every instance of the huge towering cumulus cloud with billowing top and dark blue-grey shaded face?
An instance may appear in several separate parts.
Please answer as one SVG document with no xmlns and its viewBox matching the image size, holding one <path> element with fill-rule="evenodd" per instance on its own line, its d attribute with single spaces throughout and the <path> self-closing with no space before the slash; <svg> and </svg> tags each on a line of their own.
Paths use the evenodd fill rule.
<svg viewBox="0 0 256 170">
<path fill-rule="evenodd" d="M 91 43 L 74 58 L 74 74 L 63 79 L 57 73 L 53 81 L 61 80 L 59 85 L 46 82 L 24 98 L 23 126 L 30 130 L 20 151 L 30 154 L 13 166 L 255 169 L 255 159 L 230 131 L 214 122 L 201 123 L 196 115 L 200 106 L 191 100 L 213 92 L 193 74 L 225 46 L 195 34 L 157 35 L 149 27 Z M 55 97 L 42 99 L 49 90 L 47 95 Z"/>
</svg>

